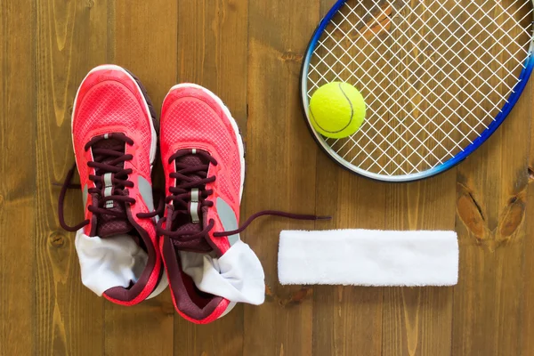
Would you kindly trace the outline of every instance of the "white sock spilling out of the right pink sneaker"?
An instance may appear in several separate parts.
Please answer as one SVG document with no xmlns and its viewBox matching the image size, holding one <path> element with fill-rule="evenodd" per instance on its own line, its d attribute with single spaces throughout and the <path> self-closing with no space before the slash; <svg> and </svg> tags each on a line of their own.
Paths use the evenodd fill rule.
<svg viewBox="0 0 534 356">
<path fill-rule="evenodd" d="M 203 292 L 231 302 L 259 305 L 265 299 L 265 275 L 254 251 L 238 240 L 220 258 L 180 252 L 182 269 Z"/>
</svg>

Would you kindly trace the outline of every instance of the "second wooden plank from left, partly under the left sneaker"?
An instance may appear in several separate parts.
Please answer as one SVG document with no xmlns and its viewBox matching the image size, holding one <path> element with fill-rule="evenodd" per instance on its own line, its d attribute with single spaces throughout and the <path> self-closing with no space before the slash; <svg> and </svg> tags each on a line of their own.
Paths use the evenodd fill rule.
<svg viewBox="0 0 534 356">
<path fill-rule="evenodd" d="M 103 302 L 80 281 L 74 233 L 59 227 L 53 183 L 74 162 L 70 114 L 77 86 L 106 61 L 108 2 L 36 4 L 36 354 L 100 354 Z M 69 193 L 65 206 L 70 223 L 83 219 L 79 191 Z"/>
</svg>

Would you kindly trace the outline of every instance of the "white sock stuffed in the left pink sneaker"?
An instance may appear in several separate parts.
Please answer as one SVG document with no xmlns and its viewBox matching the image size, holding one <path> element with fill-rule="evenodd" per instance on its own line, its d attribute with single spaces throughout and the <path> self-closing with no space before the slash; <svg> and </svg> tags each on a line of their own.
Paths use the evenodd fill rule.
<svg viewBox="0 0 534 356">
<path fill-rule="evenodd" d="M 101 239 L 85 235 L 82 228 L 76 233 L 75 247 L 82 283 L 97 295 L 111 287 L 129 287 L 130 281 L 137 282 L 149 260 L 129 235 Z"/>
</svg>

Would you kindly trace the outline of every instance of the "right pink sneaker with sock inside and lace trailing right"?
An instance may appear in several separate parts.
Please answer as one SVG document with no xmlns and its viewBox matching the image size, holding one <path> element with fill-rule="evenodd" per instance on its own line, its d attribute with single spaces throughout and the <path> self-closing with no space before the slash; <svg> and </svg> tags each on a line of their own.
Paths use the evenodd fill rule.
<svg viewBox="0 0 534 356">
<path fill-rule="evenodd" d="M 262 264 L 239 239 L 245 152 L 238 125 L 214 93 L 175 85 L 161 111 L 160 150 L 166 174 L 166 209 L 159 244 L 176 311 L 206 324 L 236 303 L 261 304 Z"/>
</svg>

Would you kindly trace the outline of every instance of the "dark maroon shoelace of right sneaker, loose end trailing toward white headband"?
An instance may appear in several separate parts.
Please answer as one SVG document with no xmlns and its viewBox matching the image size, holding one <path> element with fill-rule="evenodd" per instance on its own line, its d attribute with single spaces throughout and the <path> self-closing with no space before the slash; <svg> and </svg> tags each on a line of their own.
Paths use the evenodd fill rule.
<svg viewBox="0 0 534 356">
<path fill-rule="evenodd" d="M 198 155 L 196 162 L 198 163 L 187 163 L 185 158 L 190 155 Z M 158 221 L 157 231 L 158 235 L 167 236 L 170 239 L 174 240 L 187 240 L 190 246 L 201 246 L 204 240 L 207 238 L 208 233 L 214 227 L 214 221 L 211 219 L 206 223 L 204 229 L 200 231 L 187 231 L 180 229 L 180 226 L 173 226 L 175 219 L 180 219 L 180 217 L 190 215 L 190 203 L 191 203 L 191 190 L 198 189 L 198 210 L 201 211 L 203 208 L 209 208 L 214 205 L 212 201 L 206 200 L 210 195 L 213 194 L 213 190 L 206 190 L 206 183 L 214 182 L 216 177 L 207 176 L 207 171 L 209 165 L 217 166 L 217 161 L 211 155 L 203 150 L 178 150 L 171 156 L 168 160 L 169 164 L 175 163 L 176 173 L 169 174 L 171 180 L 176 180 L 176 185 L 174 187 L 169 187 L 169 195 L 165 198 L 166 204 L 173 203 L 172 214 L 169 217 L 161 218 Z M 277 210 L 264 210 L 256 214 L 251 215 L 247 221 L 239 227 L 239 229 L 234 231 L 219 231 L 214 232 L 214 237 L 225 237 L 238 234 L 241 231 L 247 229 L 247 226 L 250 225 L 256 218 L 264 215 L 272 216 L 281 216 L 289 219 L 296 220 L 327 220 L 331 219 L 330 216 L 316 216 L 312 214 L 292 214 L 285 213 Z M 202 217 L 200 217 L 202 221 Z M 167 222 L 167 223 L 166 223 Z M 166 228 L 164 229 L 163 223 L 166 223 Z M 205 245 L 205 243 L 204 243 Z"/>
</svg>

